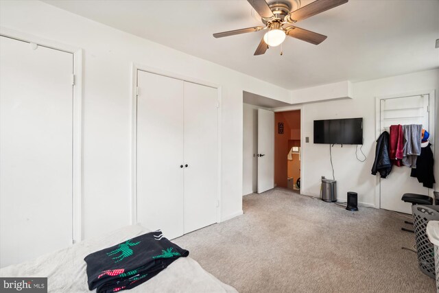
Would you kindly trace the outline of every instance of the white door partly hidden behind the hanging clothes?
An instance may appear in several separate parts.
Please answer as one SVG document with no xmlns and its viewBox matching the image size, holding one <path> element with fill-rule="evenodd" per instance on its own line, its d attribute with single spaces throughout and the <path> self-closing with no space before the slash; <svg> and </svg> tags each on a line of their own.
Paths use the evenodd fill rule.
<svg viewBox="0 0 439 293">
<path fill-rule="evenodd" d="M 422 124 L 429 129 L 429 95 L 415 95 L 411 97 L 396 97 L 381 99 L 380 101 L 381 132 L 394 124 Z M 420 138 L 419 138 L 420 139 Z M 381 209 L 412 213 L 412 204 L 403 202 L 401 197 L 405 193 L 428 195 L 429 189 L 418 183 L 418 179 L 410 177 L 410 167 L 393 166 L 387 178 L 380 178 Z"/>
</svg>

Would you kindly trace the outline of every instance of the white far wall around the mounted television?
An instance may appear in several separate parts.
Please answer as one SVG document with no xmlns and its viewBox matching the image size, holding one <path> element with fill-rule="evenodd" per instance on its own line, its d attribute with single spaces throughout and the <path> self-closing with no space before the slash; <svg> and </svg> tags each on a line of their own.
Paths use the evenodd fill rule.
<svg viewBox="0 0 439 293">
<path fill-rule="evenodd" d="M 318 102 L 302 106 L 302 132 L 309 137 L 309 143 L 302 148 L 302 194 L 318 196 L 320 194 L 320 176 L 332 178 L 329 161 L 329 145 L 313 144 L 313 120 L 350 117 L 364 118 L 363 152 L 367 156 L 364 163 L 355 158 L 355 145 L 334 145 L 332 149 L 337 196 L 346 200 L 347 191 L 358 193 L 358 201 L 375 205 L 375 176 L 370 174 L 375 159 L 375 97 L 398 95 L 414 91 L 436 89 L 436 117 L 439 113 L 439 69 L 410 73 L 379 80 L 357 82 L 353 84 L 353 99 L 333 102 Z M 438 120 L 435 122 L 438 132 Z M 436 158 L 439 155 L 439 135 L 434 143 Z M 361 154 L 359 154 L 361 159 Z M 318 170 L 318 172 L 316 172 Z M 439 160 L 435 163 L 435 178 L 439 182 Z M 436 190 L 438 190 L 436 183 Z"/>
</svg>

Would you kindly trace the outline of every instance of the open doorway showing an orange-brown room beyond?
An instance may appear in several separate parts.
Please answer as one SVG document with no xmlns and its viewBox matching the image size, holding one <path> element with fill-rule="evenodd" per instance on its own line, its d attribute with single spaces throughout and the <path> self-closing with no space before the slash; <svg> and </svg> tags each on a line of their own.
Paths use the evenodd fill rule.
<svg viewBox="0 0 439 293">
<path fill-rule="evenodd" d="M 300 110 L 274 114 L 274 185 L 300 194 Z"/>
</svg>

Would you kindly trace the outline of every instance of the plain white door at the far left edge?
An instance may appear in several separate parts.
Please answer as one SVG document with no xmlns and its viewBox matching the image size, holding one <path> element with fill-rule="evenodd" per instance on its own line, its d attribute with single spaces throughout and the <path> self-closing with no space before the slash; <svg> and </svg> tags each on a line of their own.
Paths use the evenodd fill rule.
<svg viewBox="0 0 439 293">
<path fill-rule="evenodd" d="M 73 54 L 0 36 L 0 266 L 72 243 Z"/>
</svg>

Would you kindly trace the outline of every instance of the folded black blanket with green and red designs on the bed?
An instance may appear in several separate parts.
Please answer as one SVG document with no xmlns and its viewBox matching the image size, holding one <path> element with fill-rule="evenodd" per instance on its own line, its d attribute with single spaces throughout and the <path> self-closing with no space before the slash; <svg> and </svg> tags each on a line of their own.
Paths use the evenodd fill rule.
<svg viewBox="0 0 439 293">
<path fill-rule="evenodd" d="M 91 253 L 87 263 L 88 289 L 97 292 L 127 290 L 151 279 L 189 251 L 163 237 L 146 233 L 110 248 Z"/>
</svg>

